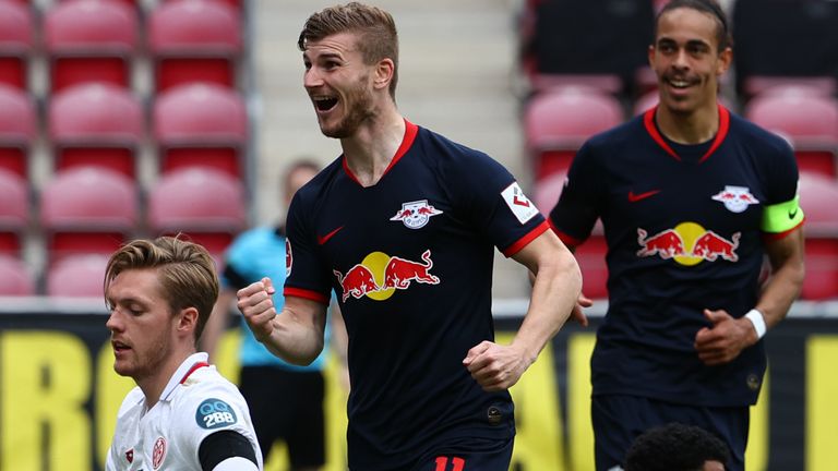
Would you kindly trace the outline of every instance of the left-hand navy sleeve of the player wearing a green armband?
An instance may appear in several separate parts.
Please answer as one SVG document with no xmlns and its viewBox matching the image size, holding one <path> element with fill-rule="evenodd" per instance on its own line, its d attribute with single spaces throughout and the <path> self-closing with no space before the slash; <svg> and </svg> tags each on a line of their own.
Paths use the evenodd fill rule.
<svg viewBox="0 0 838 471">
<path fill-rule="evenodd" d="M 550 212 L 550 225 L 570 246 L 583 243 L 597 222 L 602 172 L 592 146 L 586 143 L 573 158 L 559 202 Z"/>
</svg>

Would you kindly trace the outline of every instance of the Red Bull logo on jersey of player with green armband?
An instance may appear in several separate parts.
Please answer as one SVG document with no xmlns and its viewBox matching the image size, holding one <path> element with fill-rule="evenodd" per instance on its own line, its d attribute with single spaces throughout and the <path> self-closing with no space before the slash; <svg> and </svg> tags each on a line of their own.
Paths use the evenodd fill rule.
<svg viewBox="0 0 838 471">
<path fill-rule="evenodd" d="M 735 232 L 730 239 L 726 239 L 695 222 L 682 222 L 674 229 L 666 229 L 651 235 L 645 229 L 638 228 L 637 243 L 641 249 L 637 256 L 672 258 L 678 264 L 687 266 L 704 261 L 738 262 L 737 249 L 741 235 L 741 232 Z"/>
</svg>

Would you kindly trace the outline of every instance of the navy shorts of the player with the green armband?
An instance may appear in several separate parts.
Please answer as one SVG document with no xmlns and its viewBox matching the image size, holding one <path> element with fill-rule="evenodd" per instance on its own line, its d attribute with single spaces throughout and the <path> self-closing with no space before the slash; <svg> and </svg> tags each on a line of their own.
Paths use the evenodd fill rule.
<svg viewBox="0 0 838 471">
<path fill-rule="evenodd" d="M 606 395 L 591 398 L 597 471 L 621 466 L 634 439 L 648 428 L 679 422 L 699 426 L 728 444 L 728 471 L 744 471 L 749 408 L 694 407 L 638 396 Z"/>
</svg>

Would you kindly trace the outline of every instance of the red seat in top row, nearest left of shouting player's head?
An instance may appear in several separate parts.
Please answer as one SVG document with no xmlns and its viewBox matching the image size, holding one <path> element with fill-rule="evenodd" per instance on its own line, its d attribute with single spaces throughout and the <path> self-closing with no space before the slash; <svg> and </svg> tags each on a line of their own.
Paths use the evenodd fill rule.
<svg viewBox="0 0 838 471">
<path fill-rule="evenodd" d="M 239 11 L 220 1 L 158 4 L 152 11 L 148 32 L 157 90 L 190 82 L 235 87 L 241 29 Z"/>
</svg>

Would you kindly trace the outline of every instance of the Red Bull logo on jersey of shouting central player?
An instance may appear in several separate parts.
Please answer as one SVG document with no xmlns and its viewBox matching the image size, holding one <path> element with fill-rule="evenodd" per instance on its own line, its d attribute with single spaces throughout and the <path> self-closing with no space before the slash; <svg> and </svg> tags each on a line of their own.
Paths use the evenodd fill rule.
<svg viewBox="0 0 838 471">
<path fill-rule="evenodd" d="M 390 256 L 373 252 L 356 264 L 346 274 L 333 270 L 343 291 L 342 300 L 368 297 L 384 301 L 396 290 L 406 290 L 411 283 L 439 285 L 440 278 L 432 275 L 431 251 L 422 252 L 420 261 Z"/>
</svg>

